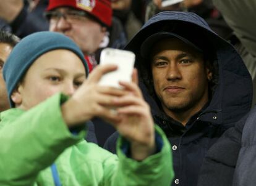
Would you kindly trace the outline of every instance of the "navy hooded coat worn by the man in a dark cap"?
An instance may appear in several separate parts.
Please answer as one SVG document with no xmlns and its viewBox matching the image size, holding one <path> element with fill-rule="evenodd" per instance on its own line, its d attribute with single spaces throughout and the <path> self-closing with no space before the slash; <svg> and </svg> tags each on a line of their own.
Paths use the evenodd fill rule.
<svg viewBox="0 0 256 186">
<path fill-rule="evenodd" d="M 151 95 L 150 86 L 147 86 L 150 63 L 140 55 L 140 46 L 145 39 L 159 31 L 176 28 L 179 30 L 177 34 L 195 37 L 196 42 L 205 43 L 204 47 L 209 55 L 215 56 L 215 65 L 218 66 L 215 89 L 209 103 L 192 116 L 185 127 L 167 116 L 157 98 Z M 143 96 L 150 104 L 155 123 L 173 145 L 173 185 L 197 185 L 200 166 L 208 148 L 251 108 L 252 79 L 247 68 L 233 46 L 211 31 L 205 20 L 190 12 L 160 12 L 145 23 L 125 49 L 135 53 Z M 105 144 L 111 152 L 115 152 L 117 135 L 117 132 L 111 135 Z"/>
</svg>

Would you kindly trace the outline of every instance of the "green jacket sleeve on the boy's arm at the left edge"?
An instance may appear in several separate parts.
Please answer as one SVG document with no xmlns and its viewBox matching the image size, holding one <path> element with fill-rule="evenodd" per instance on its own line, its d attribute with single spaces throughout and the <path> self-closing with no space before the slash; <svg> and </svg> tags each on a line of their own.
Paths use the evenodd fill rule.
<svg viewBox="0 0 256 186">
<path fill-rule="evenodd" d="M 65 148 L 85 136 L 70 133 L 61 114 L 67 98 L 56 94 L 0 126 L 0 185 L 33 185 L 38 173 L 50 166 Z"/>
</svg>

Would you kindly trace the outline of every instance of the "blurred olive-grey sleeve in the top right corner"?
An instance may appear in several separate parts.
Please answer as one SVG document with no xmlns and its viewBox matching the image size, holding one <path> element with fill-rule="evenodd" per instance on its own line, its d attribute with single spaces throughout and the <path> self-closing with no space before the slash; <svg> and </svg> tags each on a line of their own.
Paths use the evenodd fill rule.
<svg viewBox="0 0 256 186">
<path fill-rule="evenodd" d="M 256 56 L 256 24 L 254 0 L 213 0 L 224 19 L 234 30 L 247 51 Z"/>
</svg>

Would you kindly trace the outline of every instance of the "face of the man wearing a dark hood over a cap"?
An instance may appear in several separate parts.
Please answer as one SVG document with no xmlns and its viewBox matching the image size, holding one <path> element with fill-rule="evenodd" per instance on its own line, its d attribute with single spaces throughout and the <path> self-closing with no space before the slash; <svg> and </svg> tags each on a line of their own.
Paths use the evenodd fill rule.
<svg viewBox="0 0 256 186">
<path fill-rule="evenodd" d="M 211 73 L 203 55 L 176 38 L 153 47 L 151 69 L 155 92 L 164 111 L 199 111 L 208 101 Z"/>
</svg>

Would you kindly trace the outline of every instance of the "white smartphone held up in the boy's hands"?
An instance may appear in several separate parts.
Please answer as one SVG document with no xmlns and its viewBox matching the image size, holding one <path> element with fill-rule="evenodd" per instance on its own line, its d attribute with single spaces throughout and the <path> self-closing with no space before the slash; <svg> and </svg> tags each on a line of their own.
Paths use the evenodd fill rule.
<svg viewBox="0 0 256 186">
<path fill-rule="evenodd" d="M 106 48 L 101 51 L 100 65 L 114 64 L 117 70 L 106 73 L 99 81 L 100 85 L 122 88 L 119 81 L 130 82 L 134 69 L 135 54 L 130 51 Z"/>
</svg>

